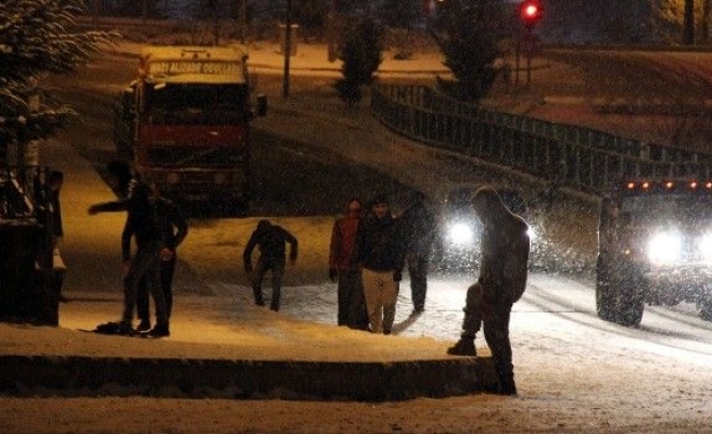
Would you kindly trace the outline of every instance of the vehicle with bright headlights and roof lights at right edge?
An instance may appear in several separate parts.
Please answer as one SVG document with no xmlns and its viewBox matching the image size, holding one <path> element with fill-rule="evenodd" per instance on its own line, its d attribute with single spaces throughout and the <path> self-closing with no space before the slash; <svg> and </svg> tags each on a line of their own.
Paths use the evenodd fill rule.
<svg viewBox="0 0 712 434">
<path fill-rule="evenodd" d="M 646 304 L 694 303 L 712 320 L 712 181 L 616 183 L 598 238 L 599 318 L 637 326 Z"/>
</svg>

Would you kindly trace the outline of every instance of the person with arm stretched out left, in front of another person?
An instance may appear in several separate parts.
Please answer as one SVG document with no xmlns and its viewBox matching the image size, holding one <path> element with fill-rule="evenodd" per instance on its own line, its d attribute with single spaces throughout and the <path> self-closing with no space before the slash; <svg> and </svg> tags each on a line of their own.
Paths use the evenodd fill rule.
<svg viewBox="0 0 712 434">
<path fill-rule="evenodd" d="M 161 225 L 155 212 L 155 201 L 150 187 L 132 175 L 126 162 L 112 161 L 107 165 L 109 182 L 123 196 L 116 201 L 96 204 L 89 214 L 106 212 L 127 212 L 122 232 L 122 256 L 124 259 L 124 312 L 119 321 L 119 333 L 130 334 L 134 330 L 139 281 L 145 276 L 147 285 L 155 305 L 156 324 L 145 332 L 151 337 L 170 335 L 166 301 L 161 290 L 158 276 L 158 255 L 163 247 Z M 131 240 L 137 251 L 131 257 Z"/>
</svg>

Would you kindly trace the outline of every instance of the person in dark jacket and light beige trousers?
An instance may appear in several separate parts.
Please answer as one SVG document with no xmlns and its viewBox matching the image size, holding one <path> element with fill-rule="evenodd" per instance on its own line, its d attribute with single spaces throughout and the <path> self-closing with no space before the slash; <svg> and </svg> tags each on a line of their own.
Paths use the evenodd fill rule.
<svg viewBox="0 0 712 434">
<path fill-rule="evenodd" d="M 404 267 L 404 240 L 385 196 L 371 201 L 358 225 L 354 259 L 361 270 L 366 310 L 372 333 L 391 334 Z"/>
</svg>

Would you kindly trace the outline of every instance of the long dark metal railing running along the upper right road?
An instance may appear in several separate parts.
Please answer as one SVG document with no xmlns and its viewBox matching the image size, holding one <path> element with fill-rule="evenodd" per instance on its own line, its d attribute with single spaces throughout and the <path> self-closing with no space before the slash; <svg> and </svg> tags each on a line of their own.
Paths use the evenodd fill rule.
<svg viewBox="0 0 712 434">
<path fill-rule="evenodd" d="M 712 155 L 499 113 L 423 86 L 377 85 L 373 115 L 393 130 L 589 193 L 625 178 L 709 179 Z"/>
</svg>

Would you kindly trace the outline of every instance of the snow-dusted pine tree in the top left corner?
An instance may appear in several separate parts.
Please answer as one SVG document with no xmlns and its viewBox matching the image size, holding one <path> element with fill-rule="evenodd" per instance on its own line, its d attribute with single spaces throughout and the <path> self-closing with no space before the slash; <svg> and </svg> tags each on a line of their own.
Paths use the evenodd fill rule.
<svg viewBox="0 0 712 434">
<path fill-rule="evenodd" d="M 47 138 L 75 112 L 52 105 L 41 89 L 47 74 L 76 71 L 117 35 L 76 31 L 82 0 L 3 0 L 0 4 L 0 155 L 12 141 Z M 75 33 L 76 31 L 76 33 Z M 39 93 L 42 104 L 31 104 Z M 8 162 L 2 162 L 7 164 Z"/>
</svg>

